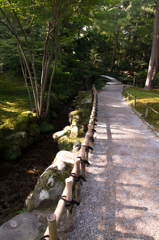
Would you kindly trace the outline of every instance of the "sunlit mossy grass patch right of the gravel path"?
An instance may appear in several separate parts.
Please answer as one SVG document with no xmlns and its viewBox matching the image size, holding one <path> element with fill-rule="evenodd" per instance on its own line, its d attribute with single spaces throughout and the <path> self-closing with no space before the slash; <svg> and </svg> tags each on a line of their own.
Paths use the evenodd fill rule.
<svg viewBox="0 0 159 240">
<path fill-rule="evenodd" d="M 159 114 L 155 113 L 151 109 L 149 109 L 148 117 L 145 118 L 146 113 L 146 104 L 149 102 L 149 106 L 153 108 L 155 111 L 159 113 L 159 89 L 153 90 L 144 90 L 143 88 L 139 87 L 131 87 L 127 89 L 132 96 L 136 96 L 136 107 L 139 113 L 141 113 L 141 118 L 147 121 L 150 125 L 152 125 L 156 130 L 159 130 Z M 127 103 L 133 106 L 134 98 L 130 96 L 129 101 Z M 128 94 L 126 93 L 125 96 L 128 99 Z M 145 105 L 144 105 L 145 104 Z"/>
</svg>

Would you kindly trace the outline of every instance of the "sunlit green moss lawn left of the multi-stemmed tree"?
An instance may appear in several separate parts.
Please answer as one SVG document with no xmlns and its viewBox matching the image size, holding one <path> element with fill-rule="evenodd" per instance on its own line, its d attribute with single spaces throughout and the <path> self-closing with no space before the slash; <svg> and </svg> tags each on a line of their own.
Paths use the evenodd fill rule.
<svg viewBox="0 0 159 240">
<path fill-rule="evenodd" d="M 30 110 L 30 102 L 24 80 L 0 76 L 0 126 L 13 128 L 17 116 Z"/>
</svg>

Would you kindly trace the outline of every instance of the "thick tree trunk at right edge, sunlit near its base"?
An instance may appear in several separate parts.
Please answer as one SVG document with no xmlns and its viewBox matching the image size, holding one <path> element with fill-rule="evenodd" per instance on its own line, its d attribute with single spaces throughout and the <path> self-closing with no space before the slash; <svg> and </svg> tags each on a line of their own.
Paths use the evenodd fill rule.
<svg viewBox="0 0 159 240">
<path fill-rule="evenodd" d="M 147 72 L 147 78 L 146 78 L 145 87 L 144 87 L 145 90 L 150 90 L 151 88 L 151 80 L 153 75 L 155 53 L 156 53 L 156 46 L 157 46 L 158 21 L 159 21 L 159 0 L 157 0 L 156 2 L 156 15 L 154 20 L 153 42 L 152 42 L 152 49 L 151 49 L 151 56 L 150 56 L 149 67 Z"/>
</svg>

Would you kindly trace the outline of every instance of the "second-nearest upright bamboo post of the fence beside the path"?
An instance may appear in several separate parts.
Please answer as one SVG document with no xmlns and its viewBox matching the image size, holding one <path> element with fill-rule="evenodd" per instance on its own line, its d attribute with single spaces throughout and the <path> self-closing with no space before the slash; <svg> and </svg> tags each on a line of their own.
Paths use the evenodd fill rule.
<svg viewBox="0 0 159 240">
<path fill-rule="evenodd" d="M 66 178 L 65 180 L 66 183 L 66 200 L 72 201 L 72 178 Z M 73 224 L 73 214 L 70 212 L 70 207 L 67 209 L 67 218 L 68 218 L 68 229 L 69 231 L 73 231 L 74 229 L 74 224 Z"/>
</svg>

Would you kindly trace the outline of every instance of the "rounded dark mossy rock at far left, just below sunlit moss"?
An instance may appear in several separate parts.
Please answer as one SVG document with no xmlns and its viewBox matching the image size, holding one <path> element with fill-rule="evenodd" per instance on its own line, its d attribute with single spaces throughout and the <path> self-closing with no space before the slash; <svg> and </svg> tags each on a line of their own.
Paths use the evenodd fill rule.
<svg viewBox="0 0 159 240">
<path fill-rule="evenodd" d="M 12 134 L 6 138 L 7 142 L 13 145 L 18 145 L 19 147 L 25 148 L 27 146 L 27 133 L 18 132 Z"/>
</svg>

